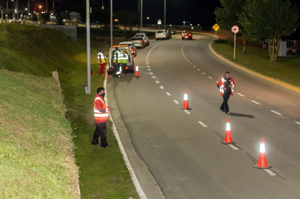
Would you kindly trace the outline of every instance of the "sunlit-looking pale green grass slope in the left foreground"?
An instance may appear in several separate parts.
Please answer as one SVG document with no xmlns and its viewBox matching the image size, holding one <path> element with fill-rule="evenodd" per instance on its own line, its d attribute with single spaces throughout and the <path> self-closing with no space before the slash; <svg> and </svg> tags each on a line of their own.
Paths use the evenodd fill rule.
<svg viewBox="0 0 300 199">
<path fill-rule="evenodd" d="M 49 77 L 0 70 L 0 79 L 1 198 L 75 198 L 78 168 L 60 89 Z"/>
</svg>

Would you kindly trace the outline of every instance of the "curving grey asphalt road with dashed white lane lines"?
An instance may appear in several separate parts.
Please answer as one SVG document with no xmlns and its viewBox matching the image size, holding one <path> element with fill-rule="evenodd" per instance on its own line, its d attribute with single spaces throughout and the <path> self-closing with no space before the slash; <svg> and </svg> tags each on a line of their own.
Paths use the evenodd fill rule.
<svg viewBox="0 0 300 199">
<path fill-rule="evenodd" d="M 150 42 L 135 58 L 140 77 L 114 79 L 132 144 L 164 195 L 300 198 L 300 94 L 220 62 L 207 47 L 212 36 L 193 37 Z M 216 86 L 227 70 L 236 83 L 231 115 L 220 111 Z M 180 109 L 184 91 L 190 114 Z M 220 143 L 227 117 L 239 150 Z M 276 176 L 253 168 L 262 137 Z"/>
</svg>

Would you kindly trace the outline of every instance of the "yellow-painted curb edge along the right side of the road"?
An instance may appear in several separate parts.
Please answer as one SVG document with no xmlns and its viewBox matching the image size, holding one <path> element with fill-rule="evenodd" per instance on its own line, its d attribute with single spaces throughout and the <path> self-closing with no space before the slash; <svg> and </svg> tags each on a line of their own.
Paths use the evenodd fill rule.
<svg viewBox="0 0 300 199">
<path fill-rule="evenodd" d="M 208 34 L 208 35 L 209 35 L 209 34 Z M 213 35 L 213 36 L 214 36 L 214 35 Z M 214 51 L 214 49 L 211 47 L 211 43 L 212 43 L 212 42 L 209 43 L 209 50 L 211 50 L 211 52 L 212 52 L 216 57 L 218 57 L 219 59 L 221 59 L 222 61 L 224 61 L 224 62 L 226 62 L 226 63 L 228 63 L 228 64 L 234 66 L 235 68 L 238 68 L 238 69 L 240 69 L 240 70 L 242 70 L 242 71 L 245 71 L 245 72 L 247 72 L 247 73 L 249 73 L 249 74 L 258 76 L 258 77 L 260 77 L 261 79 L 265 79 L 265 80 L 267 80 L 268 82 L 272 82 L 272 83 L 274 83 L 274 84 L 276 84 L 276 85 L 279 85 L 279 86 L 281 86 L 281 87 L 283 87 L 283 88 L 289 89 L 289 90 L 294 91 L 294 92 L 296 92 L 296 93 L 300 93 L 300 88 L 297 87 L 297 86 L 293 86 L 293 85 L 290 85 L 290 84 L 288 84 L 288 83 L 281 82 L 281 81 L 279 81 L 279 80 L 273 79 L 273 78 L 271 78 L 271 77 L 268 77 L 268 76 L 265 76 L 265 75 L 256 73 L 256 72 L 251 71 L 251 70 L 249 70 L 249 69 L 247 69 L 247 68 L 241 67 L 241 66 L 239 66 L 239 65 L 237 65 L 237 64 L 235 64 L 235 63 L 229 61 L 228 59 L 225 59 L 224 57 L 220 56 L 216 51 Z"/>
</svg>

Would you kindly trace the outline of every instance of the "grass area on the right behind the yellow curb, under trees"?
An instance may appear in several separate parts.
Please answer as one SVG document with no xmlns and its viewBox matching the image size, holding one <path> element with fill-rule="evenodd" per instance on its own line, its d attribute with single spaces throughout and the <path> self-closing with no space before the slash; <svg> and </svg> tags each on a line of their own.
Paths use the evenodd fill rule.
<svg viewBox="0 0 300 199">
<path fill-rule="evenodd" d="M 212 48 L 224 58 L 291 85 L 300 87 L 300 57 L 277 57 L 277 62 L 271 62 L 268 49 L 247 47 L 247 54 L 243 54 L 243 47 L 236 46 L 235 59 L 233 59 L 233 46 L 228 44 L 212 43 Z"/>
</svg>

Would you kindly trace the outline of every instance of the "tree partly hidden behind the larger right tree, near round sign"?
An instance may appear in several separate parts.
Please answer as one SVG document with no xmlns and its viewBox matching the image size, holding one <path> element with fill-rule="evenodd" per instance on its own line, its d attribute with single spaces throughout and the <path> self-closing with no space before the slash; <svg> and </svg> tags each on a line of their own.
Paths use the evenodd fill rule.
<svg viewBox="0 0 300 199">
<path fill-rule="evenodd" d="M 245 0 L 244 0 L 245 1 Z M 238 15 L 243 12 L 244 6 L 243 0 L 220 0 L 223 8 L 217 7 L 214 11 L 216 16 L 216 21 L 226 30 L 231 30 L 231 27 L 237 25 L 239 27 L 239 32 L 237 36 L 243 35 L 244 49 L 243 53 L 246 54 L 247 50 L 247 37 L 244 31 L 244 27 L 238 21 Z"/>
</svg>

